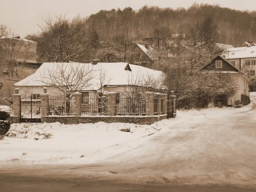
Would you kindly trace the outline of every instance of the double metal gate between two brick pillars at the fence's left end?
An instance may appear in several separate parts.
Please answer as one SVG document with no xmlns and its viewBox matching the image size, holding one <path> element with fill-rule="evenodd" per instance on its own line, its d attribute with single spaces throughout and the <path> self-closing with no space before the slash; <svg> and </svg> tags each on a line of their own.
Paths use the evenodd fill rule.
<svg viewBox="0 0 256 192">
<path fill-rule="evenodd" d="M 29 96 L 20 99 L 20 122 L 41 122 L 41 99 Z"/>
</svg>

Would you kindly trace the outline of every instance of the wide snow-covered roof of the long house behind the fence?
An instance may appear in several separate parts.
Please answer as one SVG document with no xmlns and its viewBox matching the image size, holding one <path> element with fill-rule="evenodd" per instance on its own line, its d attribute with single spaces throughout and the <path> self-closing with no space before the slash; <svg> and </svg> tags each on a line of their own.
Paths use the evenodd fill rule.
<svg viewBox="0 0 256 192">
<path fill-rule="evenodd" d="M 85 69 L 89 72 L 87 77 L 84 78 L 88 78 L 88 76 L 93 78 L 90 79 L 88 86 L 83 90 L 98 90 L 100 88 L 100 82 L 102 81 L 100 80 L 102 79 L 100 78 L 100 74 L 103 74 L 103 72 L 106 74 L 105 83 L 109 82 L 107 83 L 108 85 L 129 85 L 132 84 L 136 78 L 138 82 L 139 79 L 143 81 L 143 78 L 147 78 L 148 76 L 156 79 L 162 76 L 161 71 L 121 62 L 97 63 L 95 65 L 91 63 L 43 63 L 34 74 L 15 83 L 14 86 L 49 86 L 51 82 L 49 82 L 47 78 L 59 74 L 60 70 L 63 69 L 65 73 L 69 73 L 69 71 L 73 69 Z M 76 76 L 76 74 L 74 76 Z M 72 79 L 72 77 L 70 79 Z"/>
</svg>

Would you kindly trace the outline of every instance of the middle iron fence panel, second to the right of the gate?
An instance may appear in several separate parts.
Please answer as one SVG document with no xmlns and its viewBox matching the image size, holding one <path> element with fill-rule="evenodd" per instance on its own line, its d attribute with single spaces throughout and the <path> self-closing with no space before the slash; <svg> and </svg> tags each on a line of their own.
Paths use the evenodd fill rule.
<svg viewBox="0 0 256 192">
<path fill-rule="evenodd" d="M 108 115 L 108 98 L 82 98 L 81 115 Z"/>
</svg>

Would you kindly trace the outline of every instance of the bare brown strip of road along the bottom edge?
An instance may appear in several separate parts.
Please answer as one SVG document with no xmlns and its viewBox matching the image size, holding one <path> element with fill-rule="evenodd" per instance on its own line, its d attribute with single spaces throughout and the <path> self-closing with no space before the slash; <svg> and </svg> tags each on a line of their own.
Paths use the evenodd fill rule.
<svg viewBox="0 0 256 192">
<path fill-rule="evenodd" d="M 221 188 L 214 186 L 173 186 L 166 184 L 119 183 L 86 177 L 66 179 L 20 177 L 0 174 L 1 192 L 256 192 L 256 189 Z"/>
</svg>

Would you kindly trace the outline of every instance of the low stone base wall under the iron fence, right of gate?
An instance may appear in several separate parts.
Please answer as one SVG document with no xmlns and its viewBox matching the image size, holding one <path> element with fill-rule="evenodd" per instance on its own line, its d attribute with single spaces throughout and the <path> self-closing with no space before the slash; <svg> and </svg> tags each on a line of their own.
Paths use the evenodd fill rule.
<svg viewBox="0 0 256 192">
<path fill-rule="evenodd" d="M 124 122 L 140 125 L 151 125 L 154 122 L 166 119 L 167 115 L 155 116 L 41 116 L 41 122 L 60 122 L 63 124 L 96 123 L 96 122 Z"/>
</svg>

